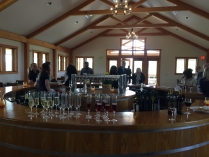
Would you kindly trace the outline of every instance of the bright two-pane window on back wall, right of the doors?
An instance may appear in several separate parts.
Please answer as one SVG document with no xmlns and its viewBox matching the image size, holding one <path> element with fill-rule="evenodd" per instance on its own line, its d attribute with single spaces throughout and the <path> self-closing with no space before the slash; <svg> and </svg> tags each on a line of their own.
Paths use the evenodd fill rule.
<svg viewBox="0 0 209 157">
<path fill-rule="evenodd" d="M 182 74 L 186 69 L 192 69 L 195 73 L 195 67 L 198 65 L 197 57 L 176 57 L 176 74 Z"/>
</svg>

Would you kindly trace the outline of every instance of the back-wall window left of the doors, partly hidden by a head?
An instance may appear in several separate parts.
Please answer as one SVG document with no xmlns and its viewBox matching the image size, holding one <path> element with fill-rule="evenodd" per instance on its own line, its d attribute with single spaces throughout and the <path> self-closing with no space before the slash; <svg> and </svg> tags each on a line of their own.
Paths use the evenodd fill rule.
<svg viewBox="0 0 209 157">
<path fill-rule="evenodd" d="M 89 68 L 94 67 L 94 58 L 93 57 L 76 57 L 76 69 L 81 71 L 84 67 L 84 63 L 89 62 Z"/>
</svg>

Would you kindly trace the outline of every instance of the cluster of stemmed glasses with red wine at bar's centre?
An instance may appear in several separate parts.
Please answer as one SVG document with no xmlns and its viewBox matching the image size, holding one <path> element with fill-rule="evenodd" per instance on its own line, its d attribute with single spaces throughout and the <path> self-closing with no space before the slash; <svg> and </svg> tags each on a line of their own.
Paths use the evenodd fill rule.
<svg viewBox="0 0 209 157">
<path fill-rule="evenodd" d="M 88 109 L 88 114 L 86 115 L 86 119 L 92 119 L 92 116 L 90 115 L 90 110 L 92 106 L 92 94 L 87 94 L 86 96 L 86 105 Z M 105 122 L 117 122 L 115 119 L 115 112 L 116 112 L 116 107 L 117 107 L 117 95 L 108 95 L 108 94 L 95 94 L 95 110 L 96 110 L 96 115 L 95 119 L 96 122 L 101 122 L 101 117 Z M 112 105 L 112 111 L 113 111 L 113 119 L 110 120 L 108 113 L 110 111 L 110 105 Z M 101 115 L 100 112 L 103 109 L 104 114 Z"/>
</svg>

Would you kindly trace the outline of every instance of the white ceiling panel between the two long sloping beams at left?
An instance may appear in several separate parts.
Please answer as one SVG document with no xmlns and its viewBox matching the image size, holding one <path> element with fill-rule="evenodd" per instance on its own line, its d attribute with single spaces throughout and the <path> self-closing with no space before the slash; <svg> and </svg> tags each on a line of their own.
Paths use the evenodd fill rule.
<svg viewBox="0 0 209 157">
<path fill-rule="evenodd" d="M 100 19 L 101 16 L 103 15 L 96 15 L 92 16 L 91 18 L 86 18 L 86 16 L 71 16 L 37 35 L 35 38 L 38 40 L 47 41 L 49 43 L 56 43 L 63 38 L 73 34 L 74 32 L 85 28 L 92 22 Z M 77 24 L 75 24 L 76 21 L 78 21 Z"/>
</svg>

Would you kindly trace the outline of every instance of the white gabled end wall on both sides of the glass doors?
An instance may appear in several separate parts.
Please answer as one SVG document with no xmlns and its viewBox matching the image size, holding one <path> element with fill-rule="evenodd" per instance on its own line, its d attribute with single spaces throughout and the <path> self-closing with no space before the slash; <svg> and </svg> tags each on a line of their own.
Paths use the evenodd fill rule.
<svg viewBox="0 0 209 157">
<path fill-rule="evenodd" d="M 123 37 L 122 37 L 123 38 Z M 73 51 L 75 56 L 94 56 L 94 73 L 106 71 L 106 49 L 119 49 L 119 37 L 100 37 Z M 147 49 L 161 49 L 160 85 L 174 87 L 181 75 L 175 74 L 175 57 L 200 57 L 206 52 L 171 36 L 146 37 Z M 199 60 L 199 65 L 205 61 Z"/>
</svg>

